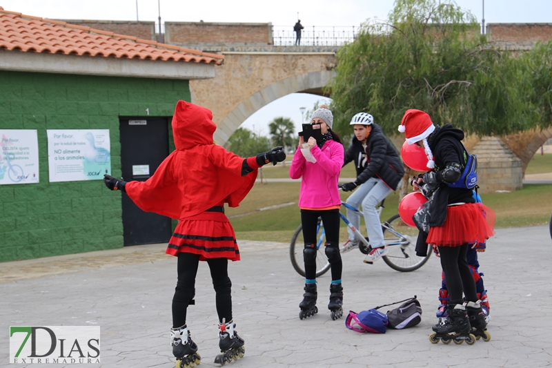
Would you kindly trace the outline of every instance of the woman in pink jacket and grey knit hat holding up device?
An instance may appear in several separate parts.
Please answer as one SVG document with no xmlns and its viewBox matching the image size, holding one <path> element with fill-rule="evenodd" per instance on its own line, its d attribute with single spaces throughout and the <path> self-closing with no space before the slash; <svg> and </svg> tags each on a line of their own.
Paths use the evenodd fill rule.
<svg viewBox="0 0 552 368">
<path fill-rule="evenodd" d="M 299 147 L 295 151 L 289 168 L 289 176 L 301 181 L 299 209 L 303 226 L 303 259 L 305 262 L 305 287 L 303 301 L 299 304 L 299 318 L 318 313 L 316 307 L 316 255 L 318 218 L 322 217 L 326 231 L 324 244 L 328 262 L 331 264 L 332 280 L 330 285 L 330 303 L 333 320 L 343 315 L 343 264 L 339 253 L 339 190 L 337 179 L 343 165 L 344 149 L 342 139 L 331 130 L 333 115 L 326 105 L 320 106 L 312 116 L 313 128 L 319 128 L 322 137 L 319 141 L 309 137 L 305 142 L 299 137 Z M 303 153 L 302 149 L 305 151 Z"/>
</svg>

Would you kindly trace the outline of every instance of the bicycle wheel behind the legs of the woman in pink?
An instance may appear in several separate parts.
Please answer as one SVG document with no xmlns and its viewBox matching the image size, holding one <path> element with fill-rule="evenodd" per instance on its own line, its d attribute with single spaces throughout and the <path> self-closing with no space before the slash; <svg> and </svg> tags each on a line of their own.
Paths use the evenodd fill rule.
<svg viewBox="0 0 552 368">
<path fill-rule="evenodd" d="M 318 232 L 316 236 L 316 277 L 324 275 L 330 269 L 330 262 L 326 258 L 326 253 L 324 251 L 324 241 L 326 240 L 326 233 L 324 233 L 324 226 L 322 221 L 318 221 Z M 289 246 L 289 256 L 291 259 L 291 264 L 293 268 L 299 275 L 305 277 L 305 262 L 303 260 L 303 249 L 304 249 L 304 240 L 303 240 L 303 226 L 299 225 L 295 233 L 293 233 L 293 238 L 291 238 L 291 244 Z"/>
</svg>

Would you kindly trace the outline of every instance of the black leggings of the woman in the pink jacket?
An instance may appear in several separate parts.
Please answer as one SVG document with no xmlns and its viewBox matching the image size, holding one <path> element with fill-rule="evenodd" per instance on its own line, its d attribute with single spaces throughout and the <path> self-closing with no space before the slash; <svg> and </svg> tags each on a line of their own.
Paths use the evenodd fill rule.
<svg viewBox="0 0 552 368">
<path fill-rule="evenodd" d="M 332 280 L 341 280 L 343 264 L 339 253 L 339 210 L 311 211 L 301 210 L 301 224 L 303 226 L 303 239 L 305 244 L 317 244 L 316 226 L 318 217 L 322 217 L 324 231 L 326 231 L 326 243 L 328 248 L 326 255 L 332 267 Z M 307 245 L 306 245 L 307 246 Z M 316 278 L 316 248 L 314 253 L 307 255 L 308 250 L 303 251 L 305 262 L 305 278 L 314 280 Z"/>
</svg>

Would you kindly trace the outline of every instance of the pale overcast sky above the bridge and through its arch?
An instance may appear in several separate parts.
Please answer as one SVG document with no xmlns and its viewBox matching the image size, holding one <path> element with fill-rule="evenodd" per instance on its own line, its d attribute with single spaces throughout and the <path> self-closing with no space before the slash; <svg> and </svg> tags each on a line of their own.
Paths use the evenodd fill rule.
<svg viewBox="0 0 552 368">
<path fill-rule="evenodd" d="M 308 26 L 359 26 L 366 19 L 386 19 L 394 0 L 160 0 L 161 21 L 273 23 L 293 26 L 297 14 Z M 483 0 L 456 3 L 482 19 Z M 486 23 L 552 23 L 552 0 L 486 0 Z M 157 21 L 157 0 L 0 0 L 4 10 L 51 19 Z M 268 122 L 290 117 L 300 126 L 299 107 L 310 109 L 317 96 L 293 94 L 257 111 L 242 124 L 268 135 Z"/>
</svg>

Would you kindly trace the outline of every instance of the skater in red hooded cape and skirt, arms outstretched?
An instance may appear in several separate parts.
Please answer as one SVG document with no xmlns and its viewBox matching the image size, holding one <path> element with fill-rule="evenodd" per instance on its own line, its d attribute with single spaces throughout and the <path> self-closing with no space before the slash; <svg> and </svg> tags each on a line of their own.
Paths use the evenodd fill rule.
<svg viewBox="0 0 552 368">
<path fill-rule="evenodd" d="M 244 340 L 234 331 L 232 283 L 228 260 L 239 260 L 234 229 L 224 214 L 224 204 L 239 205 L 264 164 L 282 162 L 282 147 L 244 159 L 213 143 L 210 110 L 178 101 L 172 117 L 176 150 L 146 182 L 124 182 L 111 175 L 103 181 L 111 190 L 124 191 L 148 212 L 179 220 L 166 253 L 178 258 L 178 282 L 172 298 L 172 353 L 179 364 L 199 363 L 197 345 L 186 326 L 186 311 L 194 304 L 195 275 L 199 261 L 206 261 L 216 293 L 221 357 L 243 356 Z"/>
</svg>

